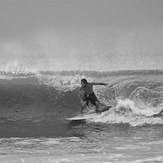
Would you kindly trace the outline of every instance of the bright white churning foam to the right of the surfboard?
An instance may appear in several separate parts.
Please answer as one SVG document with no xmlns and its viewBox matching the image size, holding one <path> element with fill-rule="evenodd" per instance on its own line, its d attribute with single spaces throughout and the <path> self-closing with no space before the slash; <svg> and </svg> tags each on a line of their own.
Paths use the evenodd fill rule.
<svg viewBox="0 0 163 163">
<path fill-rule="evenodd" d="M 106 124 L 129 124 L 131 126 L 158 125 L 163 124 L 163 117 L 153 117 L 155 113 L 151 110 L 137 108 L 133 101 L 119 100 L 118 104 L 109 111 L 90 119 L 90 122 Z"/>
</svg>

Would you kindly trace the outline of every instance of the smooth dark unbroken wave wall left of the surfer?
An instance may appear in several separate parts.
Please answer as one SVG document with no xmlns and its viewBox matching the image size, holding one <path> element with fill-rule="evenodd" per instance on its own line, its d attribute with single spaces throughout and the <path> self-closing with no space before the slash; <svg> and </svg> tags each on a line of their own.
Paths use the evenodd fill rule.
<svg viewBox="0 0 163 163">
<path fill-rule="evenodd" d="M 41 85 L 36 77 L 0 81 L 0 118 L 43 121 L 69 115 L 79 105 L 73 92 Z"/>
</svg>

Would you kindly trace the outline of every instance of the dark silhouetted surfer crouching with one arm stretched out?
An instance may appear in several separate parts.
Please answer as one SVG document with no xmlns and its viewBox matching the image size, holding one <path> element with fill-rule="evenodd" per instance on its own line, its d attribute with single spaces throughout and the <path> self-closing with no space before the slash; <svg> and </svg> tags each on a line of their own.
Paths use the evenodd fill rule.
<svg viewBox="0 0 163 163">
<path fill-rule="evenodd" d="M 82 108 L 81 112 L 83 112 L 84 108 L 89 105 L 89 103 L 96 106 L 96 112 L 100 112 L 99 110 L 99 101 L 93 91 L 94 85 L 107 85 L 106 83 L 89 83 L 86 79 L 81 80 L 81 88 L 80 88 L 80 97 Z"/>
</svg>

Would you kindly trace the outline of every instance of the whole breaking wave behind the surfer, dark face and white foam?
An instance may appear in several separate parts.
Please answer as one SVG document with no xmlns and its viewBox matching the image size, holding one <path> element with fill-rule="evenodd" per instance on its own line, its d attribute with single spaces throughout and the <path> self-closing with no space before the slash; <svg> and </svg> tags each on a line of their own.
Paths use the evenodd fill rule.
<svg viewBox="0 0 163 163">
<path fill-rule="evenodd" d="M 37 72 L 0 76 L 0 123 L 58 123 L 80 110 L 81 78 L 106 82 L 96 86 L 100 101 L 112 105 L 93 122 L 132 126 L 162 124 L 163 72 Z M 64 123 L 64 122 L 63 122 Z"/>
</svg>

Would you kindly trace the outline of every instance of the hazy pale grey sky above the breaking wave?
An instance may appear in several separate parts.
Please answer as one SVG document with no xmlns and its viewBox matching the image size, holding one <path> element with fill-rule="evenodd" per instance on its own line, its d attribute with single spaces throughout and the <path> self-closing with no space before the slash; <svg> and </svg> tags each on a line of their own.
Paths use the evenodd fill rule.
<svg viewBox="0 0 163 163">
<path fill-rule="evenodd" d="M 1 0 L 0 64 L 163 69 L 163 1 Z"/>
</svg>

